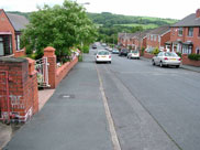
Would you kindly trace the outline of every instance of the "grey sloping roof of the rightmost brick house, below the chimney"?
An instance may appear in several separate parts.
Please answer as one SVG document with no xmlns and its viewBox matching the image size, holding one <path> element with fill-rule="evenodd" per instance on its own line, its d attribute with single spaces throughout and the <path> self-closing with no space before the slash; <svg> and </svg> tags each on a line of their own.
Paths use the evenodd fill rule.
<svg viewBox="0 0 200 150">
<path fill-rule="evenodd" d="M 179 22 L 171 25 L 174 28 L 176 26 L 200 26 L 200 18 L 196 18 L 196 13 L 189 14 Z"/>
</svg>

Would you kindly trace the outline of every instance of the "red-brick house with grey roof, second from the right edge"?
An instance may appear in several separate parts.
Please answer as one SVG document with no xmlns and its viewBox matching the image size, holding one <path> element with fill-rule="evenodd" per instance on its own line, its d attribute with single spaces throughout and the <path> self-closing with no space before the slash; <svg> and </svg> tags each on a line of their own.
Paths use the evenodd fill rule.
<svg viewBox="0 0 200 150">
<path fill-rule="evenodd" d="M 170 28 L 169 25 L 154 29 L 147 33 L 146 39 L 146 51 L 152 51 L 155 47 L 159 50 L 165 49 L 165 43 L 170 40 Z"/>
</svg>

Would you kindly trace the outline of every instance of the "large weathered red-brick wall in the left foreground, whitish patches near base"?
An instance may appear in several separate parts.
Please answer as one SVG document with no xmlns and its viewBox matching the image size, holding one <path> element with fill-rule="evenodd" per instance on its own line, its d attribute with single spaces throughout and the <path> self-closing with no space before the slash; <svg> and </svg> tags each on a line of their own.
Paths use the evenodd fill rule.
<svg viewBox="0 0 200 150">
<path fill-rule="evenodd" d="M 9 103 L 12 119 L 26 121 L 29 117 L 38 110 L 38 92 L 34 61 L 25 58 L 0 58 L 0 71 L 9 75 Z M 0 81 L 2 82 L 1 78 Z M 8 117 L 8 108 L 2 105 L 4 97 L 4 84 L 0 84 L 1 118 Z M 4 108 L 3 108 L 4 107 Z"/>
</svg>

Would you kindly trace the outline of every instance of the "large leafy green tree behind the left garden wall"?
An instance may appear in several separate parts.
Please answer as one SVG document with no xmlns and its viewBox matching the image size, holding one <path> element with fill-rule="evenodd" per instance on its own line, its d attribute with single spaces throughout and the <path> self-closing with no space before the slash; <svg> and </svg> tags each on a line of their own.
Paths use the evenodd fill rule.
<svg viewBox="0 0 200 150">
<path fill-rule="evenodd" d="M 40 54 L 46 46 L 56 49 L 59 61 L 70 54 L 69 49 L 93 42 L 96 26 L 77 2 L 65 0 L 63 6 L 44 6 L 30 15 L 30 24 L 22 35 L 23 45 Z M 27 52 L 30 52 L 27 50 Z"/>
</svg>

